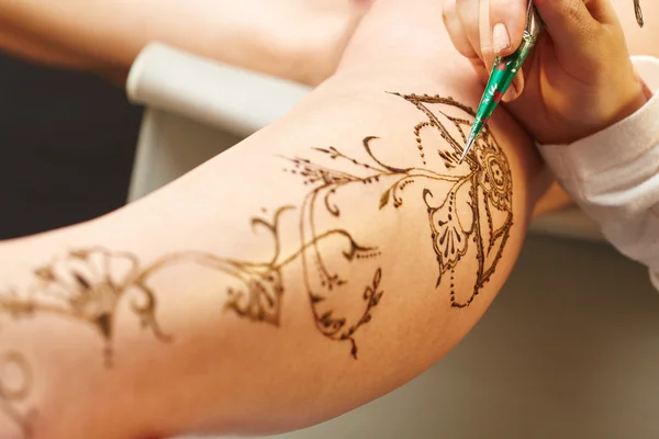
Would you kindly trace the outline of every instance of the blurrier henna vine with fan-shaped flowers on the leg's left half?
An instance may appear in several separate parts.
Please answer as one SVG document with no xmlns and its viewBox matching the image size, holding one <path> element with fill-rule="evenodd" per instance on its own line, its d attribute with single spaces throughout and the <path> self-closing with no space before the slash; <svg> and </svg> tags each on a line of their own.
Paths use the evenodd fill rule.
<svg viewBox="0 0 659 439">
<path fill-rule="evenodd" d="M 358 245 L 345 230 L 328 229 L 314 235 L 298 250 L 282 257 L 278 224 L 282 214 L 291 209 L 279 209 L 272 223 L 261 218 L 253 219 L 255 227 L 265 227 L 273 237 L 275 254 L 268 261 L 239 261 L 206 252 L 183 251 L 167 255 L 149 266 L 141 267 L 137 258 L 131 254 L 111 252 L 104 248 L 75 250 L 34 270 L 34 284 L 27 293 L 21 295 L 13 291 L 0 291 L 0 314 L 16 320 L 53 314 L 85 324 L 94 329 L 103 340 L 105 367 L 110 368 L 114 354 L 113 322 L 120 303 L 130 297 L 131 311 L 142 325 L 150 329 L 156 339 L 170 341 L 171 338 L 163 333 L 156 318 L 157 301 L 149 281 L 167 268 L 192 262 L 233 279 L 233 282 L 228 282 L 231 286 L 227 286 L 226 311 L 253 322 L 278 326 L 284 291 L 281 270 L 286 266 L 325 240 L 345 243 L 347 247 L 343 250 L 343 257 L 347 261 L 368 258 L 375 251 Z M 337 280 L 336 274 L 333 278 L 336 284 L 343 282 Z M 321 330 L 325 335 L 353 340 L 351 335 L 357 327 L 368 323 L 371 309 L 382 295 L 379 290 L 380 279 L 381 270 L 377 270 L 373 280 L 365 286 L 361 319 L 351 327 L 350 335 L 337 335 L 343 322 L 333 319 L 331 313 L 316 316 Z M 354 354 L 356 356 L 356 347 Z M 18 374 L 19 384 L 10 385 L 9 380 L 5 380 L 5 372 L 10 369 L 14 375 L 12 383 Z M 0 413 L 14 421 L 25 437 L 30 436 L 33 413 L 23 412 L 18 406 L 29 398 L 31 386 L 32 370 L 25 358 L 18 352 L 0 352 Z"/>
</svg>

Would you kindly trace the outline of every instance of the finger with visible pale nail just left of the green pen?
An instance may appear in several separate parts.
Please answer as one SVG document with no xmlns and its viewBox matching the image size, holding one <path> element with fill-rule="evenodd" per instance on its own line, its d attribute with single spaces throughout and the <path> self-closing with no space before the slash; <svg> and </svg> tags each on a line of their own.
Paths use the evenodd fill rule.
<svg viewBox="0 0 659 439">
<path fill-rule="evenodd" d="M 489 0 L 489 2 L 494 55 L 507 56 L 522 43 L 528 0 Z"/>
</svg>

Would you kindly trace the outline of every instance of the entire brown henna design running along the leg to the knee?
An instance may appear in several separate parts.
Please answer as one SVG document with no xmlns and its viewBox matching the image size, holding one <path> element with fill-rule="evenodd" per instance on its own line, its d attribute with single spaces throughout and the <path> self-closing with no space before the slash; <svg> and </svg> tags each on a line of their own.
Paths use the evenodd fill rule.
<svg viewBox="0 0 659 439">
<path fill-rule="evenodd" d="M 366 159 L 350 157 L 335 147 L 313 148 L 317 160 L 287 158 L 290 167 L 286 171 L 301 178 L 309 191 L 298 206 L 276 210 L 271 221 L 252 219 L 254 229 L 266 230 L 271 237 L 269 259 L 237 260 L 181 251 L 144 266 L 129 252 L 79 249 L 34 270 L 34 282 L 23 294 L 0 291 L 0 315 L 18 319 L 49 313 L 80 322 L 103 340 L 105 364 L 110 367 L 114 322 L 122 301 L 130 300 L 131 312 L 157 340 L 171 340 L 157 318 L 153 286 L 156 273 L 190 262 L 221 272 L 227 278 L 225 311 L 250 322 L 279 326 L 289 288 L 283 270 L 294 262 L 302 267 L 319 333 L 330 340 L 347 342 L 350 354 L 357 358 L 357 335 L 382 301 L 386 279 L 378 263 L 381 250 L 356 238 L 342 211 L 340 195 L 364 187 L 379 194 L 364 200 L 372 203 L 375 212 L 395 212 L 406 207 L 406 199 L 418 198 L 427 213 L 428 245 L 437 261 L 435 286 L 449 292 L 451 307 L 469 306 L 494 272 L 513 225 L 509 162 L 487 127 L 460 162 L 474 116 L 468 106 L 450 98 L 391 94 L 424 115 L 412 132 L 418 166 L 401 168 L 380 159 L 375 153 L 380 140 L 375 136 L 361 140 Z M 446 144 L 442 148 L 436 143 L 439 137 Z M 299 236 L 297 247 L 288 252 L 282 245 L 284 218 L 293 223 Z M 461 263 L 465 259 L 477 261 L 477 267 Z M 349 306 L 342 308 L 343 302 Z M 1 357 L 0 352 L 3 364 L 18 368 L 25 385 L 12 390 L 0 375 L 0 410 L 27 432 L 27 417 L 16 404 L 27 396 L 31 370 L 15 353 Z"/>
</svg>

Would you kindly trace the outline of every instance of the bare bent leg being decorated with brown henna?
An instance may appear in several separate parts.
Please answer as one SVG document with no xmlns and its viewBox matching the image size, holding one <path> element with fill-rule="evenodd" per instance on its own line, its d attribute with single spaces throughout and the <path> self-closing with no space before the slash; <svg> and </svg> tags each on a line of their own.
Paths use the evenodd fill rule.
<svg viewBox="0 0 659 439">
<path fill-rule="evenodd" d="M 144 201 L 0 249 L 20 296 L 5 295 L 2 318 L 25 317 L 0 337 L 33 369 L 35 391 L 14 406 L 40 409 L 34 428 L 297 428 L 395 389 L 458 342 L 514 263 L 539 162 L 502 113 L 457 164 L 473 82 L 359 77 Z M 45 288 L 64 278 L 54 313 Z"/>
</svg>

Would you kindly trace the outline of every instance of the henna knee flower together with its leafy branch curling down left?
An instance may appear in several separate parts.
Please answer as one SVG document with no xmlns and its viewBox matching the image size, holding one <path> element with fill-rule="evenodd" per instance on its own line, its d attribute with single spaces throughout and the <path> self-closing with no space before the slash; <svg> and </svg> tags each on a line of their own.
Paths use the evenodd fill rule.
<svg viewBox="0 0 659 439">
<path fill-rule="evenodd" d="M 378 137 L 372 136 L 362 140 L 370 159 L 368 162 L 349 157 L 334 147 L 315 148 L 332 160 L 354 167 L 354 172 L 345 171 L 345 167 L 339 171 L 309 159 L 292 159 L 294 167 L 290 172 L 302 176 L 305 184 L 316 184 L 303 203 L 301 228 L 304 230 L 304 225 L 309 224 L 313 236 L 316 204 L 332 215 L 339 216 L 339 206 L 331 200 L 349 185 L 383 185 L 386 189 L 379 198 L 379 207 L 400 209 L 405 188 L 414 182 L 423 184 L 420 195 L 427 209 L 433 249 L 437 257 L 436 286 L 445 282 L 450 291 L 450 305 L 466 307 L 473 302 L 494 272 L 513 226 L 513 183 L 507 159 L 485 127 L 466 160 L 460 162 L 470 121 L 474 116 L 473 110 L 468 106 L 450 98 L 392 94 L 414 104 L 426 116 L 414 128 L 421 166 L 398 168 L 382 162 L 373 153 L 373 143 Z M 448 148 L 433 148 L 431 142 L 426 142 L 426 134 L 429 135 L 428 138 L 432 138 L 432 134 L 438 134 Z M 437 154 L 435 161 L 431 161 L 429 156 L 433 149 Z M 393 183 L 390 183 L 391 180 Z M 306 239 L 304 233 L 301 237 L 302 241 Z M 335 293 L 335 289 L 344 286 L 346 280 L 337 274 L 330 275 L 322 254 L 315 247 L 310 250 L 311 255 L 304 252 L 303 256 L 311 258 L 314 263 L 304 264 L 305 279 L 308 282 L 313 279 L 309 272 L 312 267 L 320 271 L 323 279 L 316 285 L 308 283 L 319 327 L 332 339 L 350 340 L 353 353 L 356 354 L 353 336 L 359 325 L 349 325 L 346 317 L 336 317 L 334 312 L 319 318 L 315 309 Z M 470 264 L 459 263 L 466 257 L 478 262 L 476 270 Z M 455 283 L 457 278 L 462 286 L 469 282 L 472 286 L 467 292 L 463 288 L 458 291 Z"/>
</svg>

